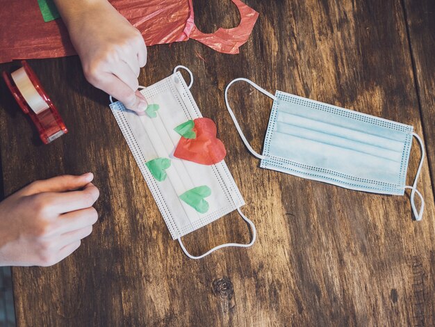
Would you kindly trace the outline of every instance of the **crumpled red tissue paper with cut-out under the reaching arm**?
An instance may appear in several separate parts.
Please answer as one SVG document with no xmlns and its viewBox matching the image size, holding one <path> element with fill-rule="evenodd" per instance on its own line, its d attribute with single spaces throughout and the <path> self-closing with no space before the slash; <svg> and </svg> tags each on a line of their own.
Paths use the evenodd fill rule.
<svg viewBox="0 0 435 327">
<path fill-rule="evenodd" d="M 252 32 L 258 13 L 240 0 L 231 1 L 240 11 L 240 24 L 208 34 L 195 26 L 192 0 L 113 0 L 110 3 L 142 33 L 147 45 L 192 38 L 216 51 L 238 54 L 238 48 Z M 0 63 L 76 54 L 62 20 L 44 22 L 38 1 L 0 0 L 0 4 Z"/>
</svg>

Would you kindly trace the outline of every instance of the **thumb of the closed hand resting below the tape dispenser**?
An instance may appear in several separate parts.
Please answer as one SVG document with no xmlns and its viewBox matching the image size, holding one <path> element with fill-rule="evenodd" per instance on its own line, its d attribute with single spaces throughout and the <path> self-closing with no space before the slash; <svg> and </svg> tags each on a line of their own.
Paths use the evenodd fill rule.
<svg viewBox="0 0 435 327">
<path fill-rule="evenodd" d="M 22 189 L 22 194 L 31 196 L 36 193 L 42 192 L 65 192 L 76 189 L 81 189 L 86 184 L 94 179 L 92 173 L 85 173 L 83 175 L 62 175 L 48 180 L 38 180 Z"/>
</svg>

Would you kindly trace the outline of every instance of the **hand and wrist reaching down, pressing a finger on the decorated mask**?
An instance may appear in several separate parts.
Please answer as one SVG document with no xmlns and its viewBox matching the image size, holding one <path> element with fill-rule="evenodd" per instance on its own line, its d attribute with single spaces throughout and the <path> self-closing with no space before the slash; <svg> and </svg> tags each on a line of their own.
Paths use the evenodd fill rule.
<svg viewBox="0 0 435 327">
<path fill-rule="evenodd" d="M 86 79 L 126 108 L 145 113 L 138 76 L 147 63 L 147 47 L 140 32 L 107 0 L 56 0 L 56 5 Z"/>
</svg>

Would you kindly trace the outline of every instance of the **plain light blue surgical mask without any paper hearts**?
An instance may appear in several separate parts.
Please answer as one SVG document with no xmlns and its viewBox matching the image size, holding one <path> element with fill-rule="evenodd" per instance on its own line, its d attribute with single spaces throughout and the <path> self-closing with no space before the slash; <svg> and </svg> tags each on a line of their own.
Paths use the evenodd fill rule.
<svg viewBox="0 0 435 327">
<path fill-rule="evenodd" d="M 236 81 L 245 81 L 274 100 L 263 154 L 249 145 L 229 106 L 228 89 Z M 413 214 L 421 220 L 425 202 L 416 186 L 425 150 L 412 126 L 281 91 L 272 95 L 248 79 L 228 84 L 225 103 L 243 143 L 261 159 L 261 168 L 372 193 L 403 196 L 405 189 L 411 189 Z M 413 136 L 421 159 L 413 185 L 407 186 Z M 416 194 L 420 209 L 414 201 Z"/>
</svg>

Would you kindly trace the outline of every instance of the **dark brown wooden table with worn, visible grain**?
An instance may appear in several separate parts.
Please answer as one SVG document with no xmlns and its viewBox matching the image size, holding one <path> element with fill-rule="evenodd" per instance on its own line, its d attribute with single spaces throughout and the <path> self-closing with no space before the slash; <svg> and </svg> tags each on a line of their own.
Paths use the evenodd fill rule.
<svg viewBox="0 0 435 327">
<path fill-rule="evenodd" d="M 101 191 L 99 223 L 79 250 L 49 268 L 13 268 L 19 326 L 434 326 L 434 1 L 246 2 L 261 15 L 239 55 L 195 41 L 150 47 L 140 83 L 159 81 L 179 64 L 195 74 L 192 93 L 217 123 L 243 211 L 258 229 L 249 249 L 199 261 L 183 255 L 108 96 L 85 81 L 79 58 L 31 61 L 70 130 L 50 145 L 40 143 L 0 83 L 5 195 L 86 171 Z M 195 18 L 206 32 L 238 24 L 230 1 L 195 1 Z M 428 152 L 419 183 L 423 220 L 412 220 L 408 196 L 258 168 L 224 107 L 224 87 L 236 77 L 413 125 Z M 243 83 L 231 98 L 261 150 L 270 99 Z M 419 160 L 414 143 L 409 183 Z M 192 253 L 248 240 L 236 212 L 184 237 Z"/>
</svg>

